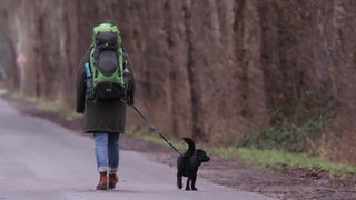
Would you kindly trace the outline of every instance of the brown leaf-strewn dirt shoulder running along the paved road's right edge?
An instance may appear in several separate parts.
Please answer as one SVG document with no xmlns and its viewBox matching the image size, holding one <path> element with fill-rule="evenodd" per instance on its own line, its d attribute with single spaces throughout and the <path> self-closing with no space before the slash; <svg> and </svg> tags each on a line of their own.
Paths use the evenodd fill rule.
<svg viewBox="0 0 356 200">
<path fill-rule="evenodd" d="M 38 110 L 32 103 L 20 100 L 7 100 L 22 113 L 48 119 L 75 132 L 81 133 L 81 121 L 69 120 L 53 113 Z M 176 166 L 177 153 L 125 134 L 120 148 L 146 153 L 158 162 Z M 211 182 L 243 191 L 261 193 L 278 199 L 356 199 L 356 178 L 332 179 L 318 169 L 290 169 L 285 166 L 270 170 L 258 170 L 240 163 L 238 160 L 221 160 L 212 157 L 198 171 L 199 177 Z M 199 188 L 199 179 L 197 182 Z"/>
</svg>

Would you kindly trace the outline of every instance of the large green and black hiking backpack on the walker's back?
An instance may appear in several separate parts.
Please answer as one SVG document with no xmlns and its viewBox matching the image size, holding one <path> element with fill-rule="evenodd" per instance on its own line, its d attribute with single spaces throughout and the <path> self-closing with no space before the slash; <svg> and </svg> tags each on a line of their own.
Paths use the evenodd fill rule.
<svg viewBox="0 0 356 200">
<path fill-rule="evenodd" d="M 90 60 L 86 63 L 87 100 L 126 102 L 125 67 L 119 29 L 112 23 L 95 27 Z"/>
</svg>

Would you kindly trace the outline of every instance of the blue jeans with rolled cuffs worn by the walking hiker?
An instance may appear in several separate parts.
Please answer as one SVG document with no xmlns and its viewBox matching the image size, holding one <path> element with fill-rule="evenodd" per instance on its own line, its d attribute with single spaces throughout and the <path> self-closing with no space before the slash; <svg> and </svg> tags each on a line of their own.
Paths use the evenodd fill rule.
<svg viewBox="0 0 356 200">
<path fill-rule="evenodd" d="M 96 158 L 99 172 L 117 172 L 119 167 L 118 133 L 95 132 Z"/>
</svg>

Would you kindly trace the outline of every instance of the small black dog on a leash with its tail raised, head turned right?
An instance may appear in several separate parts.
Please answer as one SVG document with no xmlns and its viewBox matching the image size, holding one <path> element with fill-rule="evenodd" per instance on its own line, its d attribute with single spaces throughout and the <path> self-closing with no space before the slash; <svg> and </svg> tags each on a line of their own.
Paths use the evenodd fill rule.
<svg viewBox="0 0 356 200">
<path fill-rule="evenodd" d="M 196 149 L 196 144 L 190 138 L 184 138 L 184 140 L 188 143 L 188 150 L 184 154 L 179 156 L 177 160 L 177 187 L 181 189 L 181 177 L 187 177 L 186 190 L 190 190 L 190 181 L 191 190 L 198 190 L 196 188 L 198 168 L 201 162 L 207 162 L 210 158 L 204 150 Z"/>
</svg>

